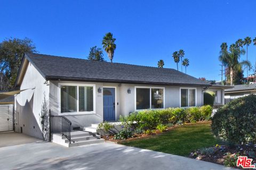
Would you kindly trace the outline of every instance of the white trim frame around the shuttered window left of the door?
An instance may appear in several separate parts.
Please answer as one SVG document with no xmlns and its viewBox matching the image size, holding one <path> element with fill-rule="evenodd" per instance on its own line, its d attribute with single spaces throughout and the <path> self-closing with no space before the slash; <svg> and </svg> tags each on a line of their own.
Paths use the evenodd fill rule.
<svg viewBox="0 0 256 170">
<path fill-rule="evenodd" d="M 77 101 L 76 101 L 76 107 L 77 107 L 77 112 L 66 112 L 66 113 L 61 113 L 61 103 L 60 103 L 60 87 L 61 86 L 76 86 L 77 90 Z M 78 100 L 78 94 L 79 94 L 79 86 L 88 86 L 88 87 L 93 87 L 93 111 L 91 112 L 79 112 L 79 100 Z M 95 94 L 95 84 L 85 84 L 85 83 L 58 83 L 58 114 L 59 115 L 81 115 L 81 114 L 95 114 L 96 113 L 96 94 Z"/>
</svg>

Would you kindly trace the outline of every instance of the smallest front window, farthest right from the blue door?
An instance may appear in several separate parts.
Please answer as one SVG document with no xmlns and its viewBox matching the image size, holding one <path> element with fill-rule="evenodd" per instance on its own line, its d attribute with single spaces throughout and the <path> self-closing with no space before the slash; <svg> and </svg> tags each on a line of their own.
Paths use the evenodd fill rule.
<svg viewBox="0 0 256 170">
<path fill-rule="evenodd" d="M 196 106 L 196 89 L 180 89 L 180 106 Z"/>
</svg>

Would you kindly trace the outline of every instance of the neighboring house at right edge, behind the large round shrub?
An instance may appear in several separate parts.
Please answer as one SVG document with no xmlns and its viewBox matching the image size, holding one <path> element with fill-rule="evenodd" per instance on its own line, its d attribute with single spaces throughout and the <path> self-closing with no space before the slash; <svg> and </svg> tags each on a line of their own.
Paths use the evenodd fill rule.
<svg viewBox="0 0 256 170">
<path fill-rule="evenodd" d="M 233 89 L 225 89 L 225 104 L 236 98 L 256 94 L 256 84 L 235 85 Z"/>
</svg>

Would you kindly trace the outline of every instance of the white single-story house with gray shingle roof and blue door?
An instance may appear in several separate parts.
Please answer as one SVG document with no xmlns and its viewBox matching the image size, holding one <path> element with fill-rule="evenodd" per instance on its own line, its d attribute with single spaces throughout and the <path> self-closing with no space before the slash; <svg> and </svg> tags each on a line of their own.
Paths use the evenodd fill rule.
<svg viewBox="0 0 256 170">
<path fill-rule="evenodd" d="M 15 87 L 15 130 L 42 138 L 45 100 L 51 115 L 86 130 L 143 109 L 202 106 L 212 84 L 174 69 L 25 54 Z"/>
</svg>

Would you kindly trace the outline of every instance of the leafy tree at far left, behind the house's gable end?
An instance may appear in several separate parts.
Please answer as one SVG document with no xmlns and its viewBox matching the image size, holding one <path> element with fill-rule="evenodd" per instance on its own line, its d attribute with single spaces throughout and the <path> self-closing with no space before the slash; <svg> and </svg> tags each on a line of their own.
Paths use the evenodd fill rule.
<svg viewBox="0 0 256 170">
<path fill-rule="evenodd" d="M 9 81 L 12 89 L 25 53 L 35 53 L 36 47 L 31 39 L 9 38 L 0 43 L 0 73 Z"/>
</svg>

